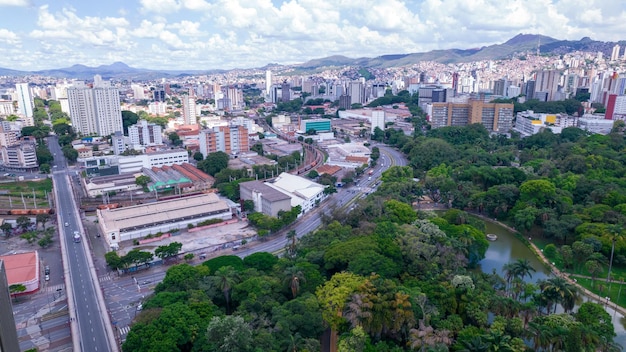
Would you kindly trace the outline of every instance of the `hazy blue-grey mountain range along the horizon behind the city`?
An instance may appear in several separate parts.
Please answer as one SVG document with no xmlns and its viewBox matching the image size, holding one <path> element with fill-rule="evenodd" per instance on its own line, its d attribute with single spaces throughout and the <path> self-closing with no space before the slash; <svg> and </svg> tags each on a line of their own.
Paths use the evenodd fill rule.
<svg viewBox="0 0 626 352">
<path fill-rule="evenodd" d="M 433 50 L 424 53 L 383 55 L 374 58 L 349 58 L 335 55 L 309 60 L 300 65 L 292 65 L 303 71 L 316 70 L 321 67 L 358 66 L 364 68 L 388 68 L 418 63 L 420 61 L 436 61 L 440 63 L 457 63 L 480 60 L 496 60 L 523 55 L 526 52 L 539 51 L 542 54 L 565 54 L 572 51 L 601 51 L 610 56 L 615 44 L 625 46 L 626 41 L 602 42 L 584 37 L 580 40 L 558 40 L 537 34 L 518 34 L 503 44 L 494 44 L 474 49 Z M 275 65 L 275 64 L 272 64 Z M 0 68 L 0 76 L 42 75 L 59 78 L 91 79 L 99 74 L 105 79 L 150 80 L 163 77 L 189 76 L 198 74 L 223 73 L 227 70 L 150 70 L 133 68 L 123 62 L 111 65 L 89 67 L 74 65 L 67 68 L 41 71 L 18 71 Z"/>
</svg>

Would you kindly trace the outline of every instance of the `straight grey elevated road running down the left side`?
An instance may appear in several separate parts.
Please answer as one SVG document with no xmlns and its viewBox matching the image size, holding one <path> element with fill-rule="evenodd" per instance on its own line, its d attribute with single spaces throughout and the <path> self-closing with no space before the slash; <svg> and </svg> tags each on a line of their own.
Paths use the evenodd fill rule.
<svg viewBox="0 0 626 352">
<path fill-rule="evenodd" d="M 91 254 L 85 242 L 82 223 L 70 188 L 63 152 L 56 137 L 48 138 L 50 152 L 55 156 L 52 179 L 59 220 L 72 339 L 75 351 L 117 351 L 104 299 L 95 275 Z M 81 241 L 74 242 L 74 231 Z"/>
</svg>

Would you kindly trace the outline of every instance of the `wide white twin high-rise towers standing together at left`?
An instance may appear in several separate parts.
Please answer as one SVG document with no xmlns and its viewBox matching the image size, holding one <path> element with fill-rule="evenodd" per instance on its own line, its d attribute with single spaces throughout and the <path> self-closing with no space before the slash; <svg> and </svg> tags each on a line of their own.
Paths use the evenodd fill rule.
<svg viewBox="0 0 626 352">
<path fill-rule="evenodd" d="M 123 130 L 119 91 L 99 82 L 93 88 L 77 82 L 67 89 L 72 126 L 83 135 L 109 136 Z"/>
</svg>

